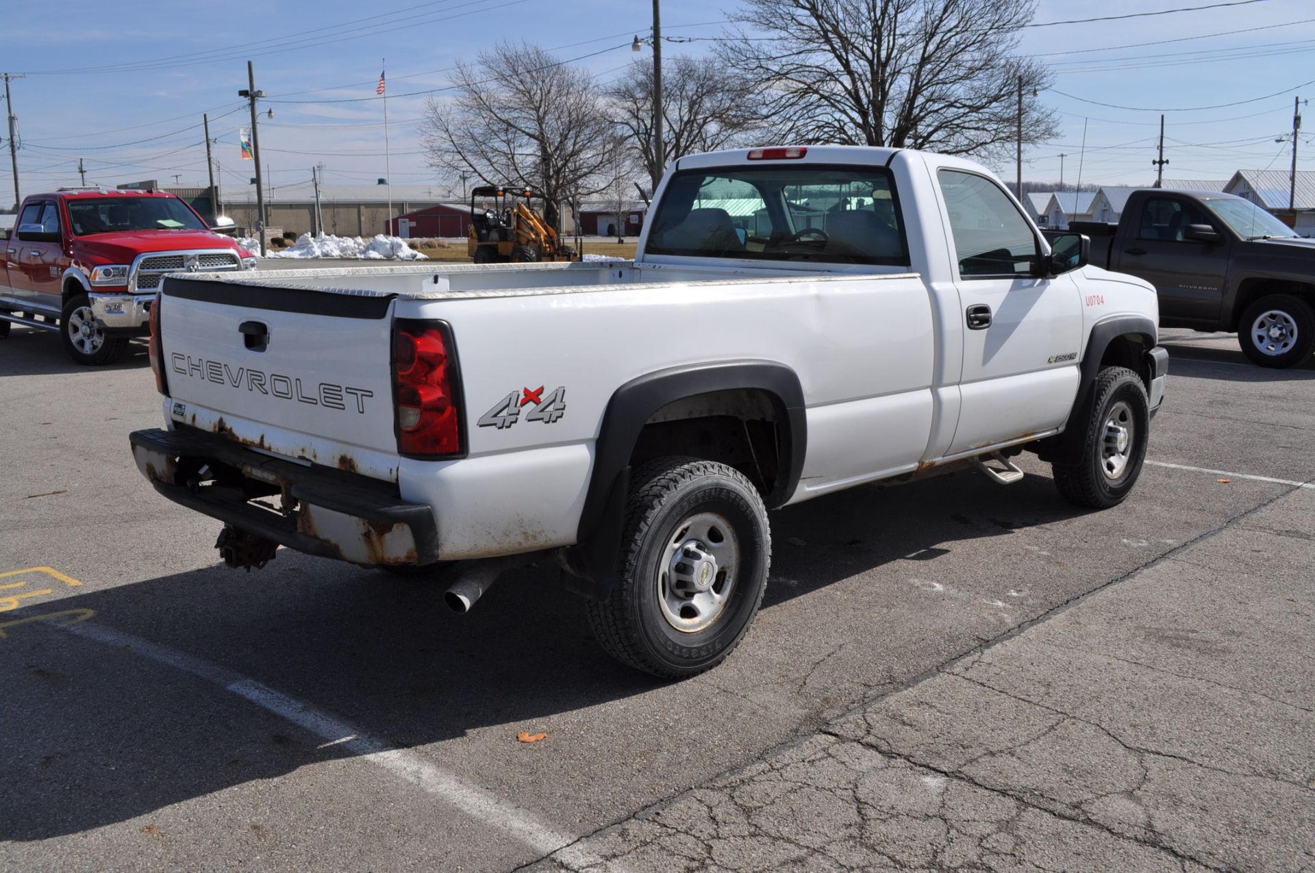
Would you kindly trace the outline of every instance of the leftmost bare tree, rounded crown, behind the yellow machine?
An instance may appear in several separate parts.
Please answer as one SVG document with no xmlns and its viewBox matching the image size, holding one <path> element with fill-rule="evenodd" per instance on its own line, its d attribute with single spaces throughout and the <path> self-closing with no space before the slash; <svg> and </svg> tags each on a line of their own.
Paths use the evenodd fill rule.
<svg viewBox="0 0 1315 873">
<path fill-rule="evenodd" d="M 458 64 L 452 84 L 456 97 L 430 99 L 421 122 L 431 167 L 535 188 L 554 227 L 562 202 L 608 185 L 617 129 L 589 74 L 538 46 L 504 42 Z"/>
</svg>

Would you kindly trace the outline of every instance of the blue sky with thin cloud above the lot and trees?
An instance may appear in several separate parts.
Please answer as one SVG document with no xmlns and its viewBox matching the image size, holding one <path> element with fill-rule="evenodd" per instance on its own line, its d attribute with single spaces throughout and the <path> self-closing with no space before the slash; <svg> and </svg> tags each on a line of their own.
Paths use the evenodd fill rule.
<svg viewBox="0 0 1315 873">
<path fill-rule="evenodd" d="M 1039 0 L 1034 21 L 1212 1 L 1219 0 Z M 425 166 L 416 131 L 426 97 L 404 95 L 444 87 L 447 68 L 502 38 L 535 41 L 560 58 L 592 55 L 579 64 L 606 82 L 635 57 L 630 37 L 648 26 L 651 14 L 647 0 L 241 5 L 12 0 L 5 5 L 0 70 L 29 74 L 12 85 L 25 193 L 76 184 L 79 156 L 88 181 L 172 184 L 176 174 L 181 184 L 205 184 L 203 112 L 209 112 L 210 134 L 220 139 L 222 183 L 247 184 L 251 164 L 239 160 L 237 142 L 247 113 L 237 91 L 246 87 L 249 58 L 255 62 L 256 87 L 270 97 L 262 108 L 260 146 L 275 187 L 309 179 L 317 163 L 325 166 L 329 183 L 371 183 L 384 175 L 383 104 L 373 96 L 384 57 L 392 179 L 442 187 Z M 734 7 L 735 0 L 664 0 L 664 32 L 717 37 Z M 664 51 L 694 54 L 713 45 L 667 43 Z M 1024 153 L 1028 180 L 1059 179 L 1064 153 L 1065 181 L 1077 180 L 1081 163 L 1084 183 L 1147 184 L 1153 179 L 1160 108 L 1170 109 L 1168 177 L 1285 170 L 1290 145 L 1274 138 L 1291 129 L 1293 96 L 1315 97 L 1315 84 L 1290 91 L 1315 79 L 1311 0 L 1036 26 L 1026 32 L 1020 50 L 1052 64 L 1055 89 L 1041 100 L 1063 113 L 1060 137 Z M 1265 95 L 1276 96 L 1257 100 Z M 355 99 L 363 100 L 323 103 Z M 272 120 L 263 114 L 268 108 Z M 1303 138 L 1301 150 L 1315 158 L 1315 116 L 1307 129 L 1312 141 Z M 998 170 L 1013 179 L 1011 160 Z M 5 156 L 0 192 L 11 189 Z M 7 193 L 0 196 L 0 202 L 8 200 Z"/>
</svg>

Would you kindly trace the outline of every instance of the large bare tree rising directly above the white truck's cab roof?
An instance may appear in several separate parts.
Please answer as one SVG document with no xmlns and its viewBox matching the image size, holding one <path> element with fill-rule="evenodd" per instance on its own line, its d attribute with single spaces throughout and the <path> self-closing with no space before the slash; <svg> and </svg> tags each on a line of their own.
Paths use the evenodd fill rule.
<svg viewBox="0 0 1315 873">
<path fill-rule="evenodd" d="M 1014 54 L 1035 0 L 744 0 L 722 59 L 768 93 L 782 141 L 998 155 L 1056 135 L 1035 92 L 1045 68 Z M 761 37 L 769 37 L 763 39 Z"/>
</svg>

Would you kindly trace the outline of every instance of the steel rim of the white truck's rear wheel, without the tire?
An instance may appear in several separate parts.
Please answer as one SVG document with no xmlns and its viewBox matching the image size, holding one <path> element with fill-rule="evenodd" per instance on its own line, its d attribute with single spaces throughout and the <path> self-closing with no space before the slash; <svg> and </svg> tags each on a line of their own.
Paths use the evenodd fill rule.
<svg viewBox="0 0 1315 873">
<path fill-rule="evenodd" d="M 719 513 L 697 513 L 680 523 L 658 567 L 663 618 L 682 634 L 707 630 L 726 614 L 739 573 L 739 538 Z"/>
</svg>

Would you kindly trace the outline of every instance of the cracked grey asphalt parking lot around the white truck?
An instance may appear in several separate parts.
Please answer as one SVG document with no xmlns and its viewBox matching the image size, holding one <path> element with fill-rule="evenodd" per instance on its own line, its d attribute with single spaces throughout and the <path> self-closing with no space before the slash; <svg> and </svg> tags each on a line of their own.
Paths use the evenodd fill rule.
<svg viewBox="0 0 1315 873">
<path fill-rule="evenodd" d="M 789 836 L 857 820 L 846 818 L 852 798 L 792 807 L 776 839 L 802 853 L 755 855 L 769 838 L 751 828 L 717 835 L 743 841 L 718 855 L 698 835 L 696 819 L 715 818 L 706 798 L 690 811 L 698 791 L 759 785 L 764 767 L 821 772 L 827 755 L 840 759 L 831 747 L 852 745 L 914 768 L 923 785 L 953 788 L 968 773 L 965 791 L 1099 831 L 1106 848 L 1084 855 L 1084 869 L 1315 869 L 1315 490 L 1303 486 L 1315 481 L 1315 366 L 1264 371 L 1216 334 L 1168 331 L 1165 344 L 1166 405 L 1123 506 L 1074 510 L 1024 455 L 1030 475 L 1009 488 L 956 473 L 781 510 L 753 630 L 726 664 L 671 685 L 605 656 L 551 567 L 509 575 L 464 617 L 437 586 L 285 550 L 264 571 L 224 568 L 218 525 L 158 497 L 132 463 L 128 433 L 160 423 L 145 346 L 84 369 L 55 337 L 14 327 L 0 343 L 0 868 L 1080 869 L 893 848 L 885 860 L 823 857 Z M 1230 564 L 1231 585 L 1222 560 L 1241 564 Z M 1239 596 L 1248 573 L 1253 598 Z M 1136 609 L 1099 600 L 1132 593 Z M 1178 615 L 1189 606 L 1215 636 Z M 1177 672 L 1277 699 L 1286 720 L 1241 693 L 1205 709 L 1148 685 L 1127 697 L 1131 723 L 1177 726 L 1166 755 L 1251 749 L 1264 767 L 1206 767 L 1239 778 L 1253 767 L 1257 780 L 1278 770 L 1282 788 L 1219 790 L 1194 818 L 1189 801 L 1202 802 L 1208 780 L 1184 776 L 1123 826 L 1114 807 L 1063 806 L 1065 791 L 1115 806 L 1135 794 L 1094 785 L 1116 763 L 1090 734 L 1059 734 L 1045 760 L 1016 759 L 1016 770 L 1045 773 L 1036 784 L 972 772 L 980 756 L 947 751 L 1036 720 L 964 696 L 976 677 L 1036 705 L 1022 680 L 1001 677 L 1011 663 L 1031 671 L 1028 686 L 1074 698 L 1057 710 L 1106 696 L 1109 672 L 1030 642 L 1095 622 L 1155 626 L 1177 640 Z M 547 738 L 525 744 L 521 731 Z M 878 807 L 918 814 L 890 824 L 892 813 L 884 836 L 869 827 L 855 840 L 944 839 L 907 785 L 881 790 Z M 663 835 L 693 844 L 646 835 L 664 815 Z M 1190 826 L 1173 831 L 1162 823 L 1173 816 Z M 1072 848 L 1085 832 L 1052 838 Z"/>
</svg>

